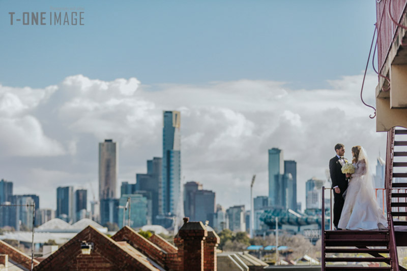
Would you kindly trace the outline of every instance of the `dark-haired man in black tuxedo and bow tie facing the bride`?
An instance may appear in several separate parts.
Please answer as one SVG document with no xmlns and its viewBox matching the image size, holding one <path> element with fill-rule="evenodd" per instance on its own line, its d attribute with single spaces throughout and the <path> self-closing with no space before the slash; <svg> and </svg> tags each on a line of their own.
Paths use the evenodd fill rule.
<svg viewBox="0 0 407 271">
<path fill-rule="evenodd" d="M 336 144 L 335 152 L 336 155 L 329 160 L 329 173 L 332 180 L 332 189 L 334 189 L 334 226 L 335 229 L 337 229 L 340 214 L 345 202 L 342 195 L 347 188 L 346 176 L 342 173 L 341 168 L 347 160 L 343 158 L 343 154 L 345 154 L 345 146 L 343 146 L 343 144 Z"/>
</svg>

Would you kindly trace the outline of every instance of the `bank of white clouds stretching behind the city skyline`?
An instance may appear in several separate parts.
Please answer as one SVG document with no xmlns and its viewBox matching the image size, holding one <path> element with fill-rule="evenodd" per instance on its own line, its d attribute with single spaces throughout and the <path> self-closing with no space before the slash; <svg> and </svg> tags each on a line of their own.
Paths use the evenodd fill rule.
<svg viewBox="0 0 407 271">
<path fill-rule="evenodd" d="M 365 83 L 370 103 L 376 80 L 369 75 Z M 57 169 L 75 180 L 55 175 L 56 180 L 43 182 L 52 189 L 85 179 L 97 185 L 97 145 L 112 138 L 120 148 L 119 179 L 134 182 L 135 173 L 146 172 L 147 159 L 161 156 L 162 111 L 180 110 L 186 181 L 215 190 L 217 201 L 226 207 L 248 204 L 252 174 L 257 174 L 255 195 L 267 195 L 267 150 L 278 147 L 285 159 L 297 161 L 298 199 L 304 203 L 305 181 L 325 179 L 337 142 L 348 151 L 363 145 L 371 159 L 379 149 L 385 153 L 385 134 L 374 132 L 375 121 L 368 117 L 372 112 L 360 102 L 362 76 L 329 83 L 331 88 L 316 90 L 252 80 L 146 86 L 135 78 L 105 82 L 76 75 L 57 86 L 28 91 L 30 101 L 7 88 L 0 92 L 0 124 L 8 125 L 0 136 L 0 150 L 5 150 L 0 159 L 13 152 L 60 155 L 43 170 Z M 36 147 L 24 152 L 33 139 Z M 44 167 L 21 161 L 23 167 Z M 6 179 L 18 176 L 6 173 Z"/>
</svg>

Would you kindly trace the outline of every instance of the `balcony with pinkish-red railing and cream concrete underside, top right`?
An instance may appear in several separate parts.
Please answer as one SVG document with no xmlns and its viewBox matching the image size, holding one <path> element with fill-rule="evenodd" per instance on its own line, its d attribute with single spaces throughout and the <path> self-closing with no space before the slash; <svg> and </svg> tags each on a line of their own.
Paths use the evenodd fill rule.
<svg viewBox="0 0 407 271">
<path fill-rule="evenodd" d="M 388 131 L 394 126 L 407 127 L 406 5 L 407 0 L 376 1 L 380 74 L 376 87 L 377 131 Z"/>
</svg>

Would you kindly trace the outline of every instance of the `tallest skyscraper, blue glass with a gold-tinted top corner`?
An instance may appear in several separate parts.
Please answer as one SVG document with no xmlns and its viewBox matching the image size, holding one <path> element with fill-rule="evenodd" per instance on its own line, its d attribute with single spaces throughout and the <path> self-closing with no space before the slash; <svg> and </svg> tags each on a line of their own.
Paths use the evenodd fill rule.
<svg viewBox="0 0 407 271">
<path fill-rule="evenodd" d="M 163 112 L 160 214 L 183 215 L 181 195 L 181 113 Z"/>
</svg>

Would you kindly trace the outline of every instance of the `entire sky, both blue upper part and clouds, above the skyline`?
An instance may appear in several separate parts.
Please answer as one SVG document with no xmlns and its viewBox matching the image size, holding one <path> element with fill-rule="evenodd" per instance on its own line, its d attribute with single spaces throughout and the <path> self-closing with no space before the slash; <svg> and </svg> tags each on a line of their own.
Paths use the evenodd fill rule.
<svg viewBox="0 0 407 271">
<path fill-rule="evenodd" d="M 84 11 L 84 25 L 10 25 L 9 12 L 57 8 Z M 359 97 L 374 22 L 373 0 L 0 0 L 0 178 L 55 208 L 57 186 L 97 191 L 111 138 L 118 186 L 135 182 L 162 155 L 162 110 L 179 110 L 182 175 L 217 203 L 248 204 L 253 174 L 264 195 L 273 147 L 304 191 L 338 142 L 385 153 Z M 370 104 L 376 84 L 369 69 Z"/>
</svg>

